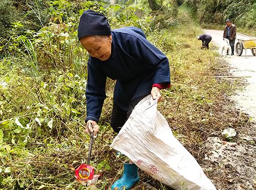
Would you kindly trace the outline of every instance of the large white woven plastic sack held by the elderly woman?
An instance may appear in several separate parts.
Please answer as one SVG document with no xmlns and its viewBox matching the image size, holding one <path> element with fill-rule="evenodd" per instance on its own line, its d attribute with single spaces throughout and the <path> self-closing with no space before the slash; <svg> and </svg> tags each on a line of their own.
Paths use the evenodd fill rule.
<svg viewBox="0 0 256 190">
<path fill-rule="evenodd" d="M 136 105 L 111 147 L 174 189 L 216 190 L 196 159 L 174 137 L 151 95 Z"/>
</svg>

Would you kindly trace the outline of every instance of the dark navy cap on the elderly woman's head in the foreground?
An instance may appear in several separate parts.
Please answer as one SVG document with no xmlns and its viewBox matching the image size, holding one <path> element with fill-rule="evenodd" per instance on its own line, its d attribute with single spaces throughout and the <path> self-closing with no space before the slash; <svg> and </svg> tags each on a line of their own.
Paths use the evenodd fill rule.
<svg viewBox="0 0 256 190">
<path fill-rule="evenodd" d="M 83 36 L 110 36 L 108 18 L 93 10 L 84 11 L 78 25 L 78 39 Z"/>
</svg>

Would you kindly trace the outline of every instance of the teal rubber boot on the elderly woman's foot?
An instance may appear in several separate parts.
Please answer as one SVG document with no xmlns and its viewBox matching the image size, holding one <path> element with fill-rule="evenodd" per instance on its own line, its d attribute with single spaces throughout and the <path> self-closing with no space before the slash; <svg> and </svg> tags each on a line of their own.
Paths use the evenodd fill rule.
<svg viewBox="0 0 256 190">
<path fill-rule="evenodd" d="M 140 177 L 138 175 L 138 167 L 135 164 L 123 163 L 123 175 L 120 179 L 116 180 L 114 184 L 111 186 L 111 189 L 115 189 L 118 187 L 119 189 L 123 189 L 125 186 L 126 189 L 130 189 L 133 185 L 135 185 L 139 181 Z"/>
</svg>

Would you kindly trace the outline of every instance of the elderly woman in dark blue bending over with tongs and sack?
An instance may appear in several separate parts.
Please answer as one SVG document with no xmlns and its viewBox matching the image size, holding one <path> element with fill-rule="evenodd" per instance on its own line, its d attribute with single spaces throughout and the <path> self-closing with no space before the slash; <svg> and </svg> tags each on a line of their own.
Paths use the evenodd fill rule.
<svg viewBox="0 0 256 190">
<path fill-rule="evenodd" d="M 151 94 L 159 101 L 160 89 L 169 87 L 168 59 L 146 40 L 140 29 L 125 27 L 111 31 L 105 16 L 87 10 L 80 17 L 78 38 L 90 55 L 86 90 L 87 133 L 96 135 L 99 131 L 97 123 L 106 97 L 106 77 L 116 79 L 111 126 L 117 133 L 143 97 Z M 122 177 L 111 188 L 125 186 L 129 189 L 138 181 L 137 166 L 131 161 L 125 162 Z"/>
</svg>

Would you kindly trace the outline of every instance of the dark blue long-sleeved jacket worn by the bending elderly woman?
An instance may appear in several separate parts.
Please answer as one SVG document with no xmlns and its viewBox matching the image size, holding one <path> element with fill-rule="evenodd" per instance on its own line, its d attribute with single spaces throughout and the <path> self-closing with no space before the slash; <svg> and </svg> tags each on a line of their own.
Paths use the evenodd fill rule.
<svg viewBox="0 0 256 190">
<path fill-rule="evenodd" d="M 167 57 L 135 27 L 112 31 L 111 57 L 90 57 L 86 89 L 87 118 L 98 122 L 105 95 L 106 77 L 116 79 L 114 102 L 128 110 L 132 99 L 151 93 L 153 84 L 170 83 Z"/>
</svg>

